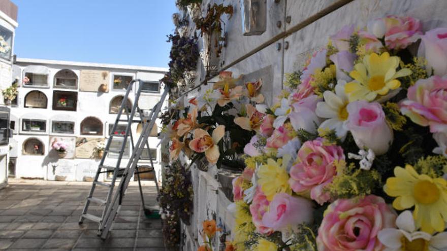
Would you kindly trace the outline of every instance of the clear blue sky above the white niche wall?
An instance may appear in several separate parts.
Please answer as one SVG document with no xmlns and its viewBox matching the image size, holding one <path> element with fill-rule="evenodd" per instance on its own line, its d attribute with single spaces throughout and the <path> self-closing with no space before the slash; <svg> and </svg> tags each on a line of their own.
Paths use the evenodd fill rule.
<svg viewBox="0 0 447 251">
<path fill-rule="evenodd" d="M 167 67 L 175 0 L 12 0 L 17 57 Z"/>
</svg>

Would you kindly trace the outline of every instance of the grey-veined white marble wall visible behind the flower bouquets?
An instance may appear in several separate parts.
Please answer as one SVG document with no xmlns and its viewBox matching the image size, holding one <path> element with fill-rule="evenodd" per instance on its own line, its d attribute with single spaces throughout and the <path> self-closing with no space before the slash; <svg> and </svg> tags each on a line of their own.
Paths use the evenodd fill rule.
<svg viewBox="0 0 447 251">
<path fill-rule="evenodd" d="M 203 15 L 206 13 L 208 3 L 231 4 L 234 8 L 232 19 L 222 19 L 228 32 L 228 45 L 223 49 L 220 59 L 221 65 L 231 63 L 253 48 L 268 41 L 274 35 L 300 24 L 325 8 L 346 1 L 279 0 L 278 3 L 275 3 L 274 0 L 267 0 L 267 30 L 262 35 L 252 37 L 242 35 L 240 2 L 242 1 L 205 0 L 202 4 Z M 278 40 L 229 70 L 233 71 L 234 76 L 244 74 L 245 81 L 262 78 L 262 92 L 266 97 L 266 103 L 271 105 L 274 97 L 282 89 L 284 73 L 302 69 L 309 53 L 326 46 L 329 36 L 344 25 L 356 24 L 361 27 L 368 20 L 377 17 L 411 15 L 420 19 L 423 23 L 423 29 L 428 30 L 433 27 L 447 27 L 447 15 L 445 13 L 447 13 L 447 1 L 444 0 L 354 0 L 328 15 L 320 17 L 317 21 L 289 35 L 289 37 Z M 286 22 L 288 16 L 290 16 L 290 23 Z M 277 26 L 278 21 L 281 22 L 280 27 Z M 190 20 L 189 26 L 190 33 L 194 32 L 194 22 Z M 288 46 L 284 46 L 285 43 Z M 199 39 L 199 44 L 202 47 L 201 39 Z M 198 76 L 200 76 L 200 80 L 198 79 L 196 84 L 200 83 L 205 76 L 201 63 L 198 66 Z M 211 86 L 203 86 L 198 91 L 189 93 L 188 97 L 203 94 L 208 88 L 211 88 Z M 182 245 L 183 250 L 197 250 L 202 243 L 199 235 L 202 221 L 212 219 L 213 215 L 216 216 L 217 223 L 225 224 L 226 230 L 231 230 L 234 225 L 234 219 L 227 210 L 230 201 L 220 192 L 220 185 L 214 177 L 215 172 L 215 166 L 209 167 L 208 172 L 193 168 L 194 215 L 190 226 L 182 225 L 182 231 L 186 236 Z M 216 239 L 215 242 L 214 250 L 218 250 L 218 240 Z"/>
</svg>

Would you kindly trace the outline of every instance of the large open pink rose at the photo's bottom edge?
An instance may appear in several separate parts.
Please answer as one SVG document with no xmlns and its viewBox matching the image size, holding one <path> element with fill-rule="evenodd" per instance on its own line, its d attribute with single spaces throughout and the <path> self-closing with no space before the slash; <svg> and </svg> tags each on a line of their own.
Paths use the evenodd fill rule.
<svg viewBox="0 0 447 251">
<path fill-rule="evenodd" d="M 395 225 L 396 213 L 375 195 L 338 199 L 329 205 L 318 229 L 318 251 L 379 251 L 377 234 Z"/>
</svg>

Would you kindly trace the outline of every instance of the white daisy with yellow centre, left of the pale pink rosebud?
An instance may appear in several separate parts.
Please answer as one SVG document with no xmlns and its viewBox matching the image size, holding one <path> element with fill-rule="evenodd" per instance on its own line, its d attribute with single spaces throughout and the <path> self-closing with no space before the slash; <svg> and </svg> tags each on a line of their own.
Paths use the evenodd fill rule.
<svg viewBox="0 0 447 251">
<path fill-rule="evenodd" d="M 318 127 L 320 130 L 334 130 L 337 137 L 344 140 L 347 133 L 346 120 L 348 118 L 348 113 L 346 110 L 346 105 L 349 100 L 344 93 L 344 85 L 346 81 L 340 80 L 335 86 L 335 93 L 331 91 L 325 91 L 323 93 L 324 102 L 318 102 L 316 104 L 315 113 L 320 118 L 325 118 L 326 120 L 321 123 Z"/>
</svg>

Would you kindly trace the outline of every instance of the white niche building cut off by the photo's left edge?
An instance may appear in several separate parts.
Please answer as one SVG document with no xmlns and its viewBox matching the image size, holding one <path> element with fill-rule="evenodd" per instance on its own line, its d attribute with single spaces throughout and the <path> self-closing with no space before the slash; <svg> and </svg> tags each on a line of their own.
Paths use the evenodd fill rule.
<svg viewBox="0 0 447 251">
<path fill-rule="evenodd" d="M 12 62 L 14 55 L 14 35 L 18 8 L 9 0 L 0 1 L 0 90 L 12 83 Z M 5 105 L 3 92 L 0 93 L 0 189 L 8 182 L 9 163 L 9 116 L 10 107 Z"/>
</svg>

